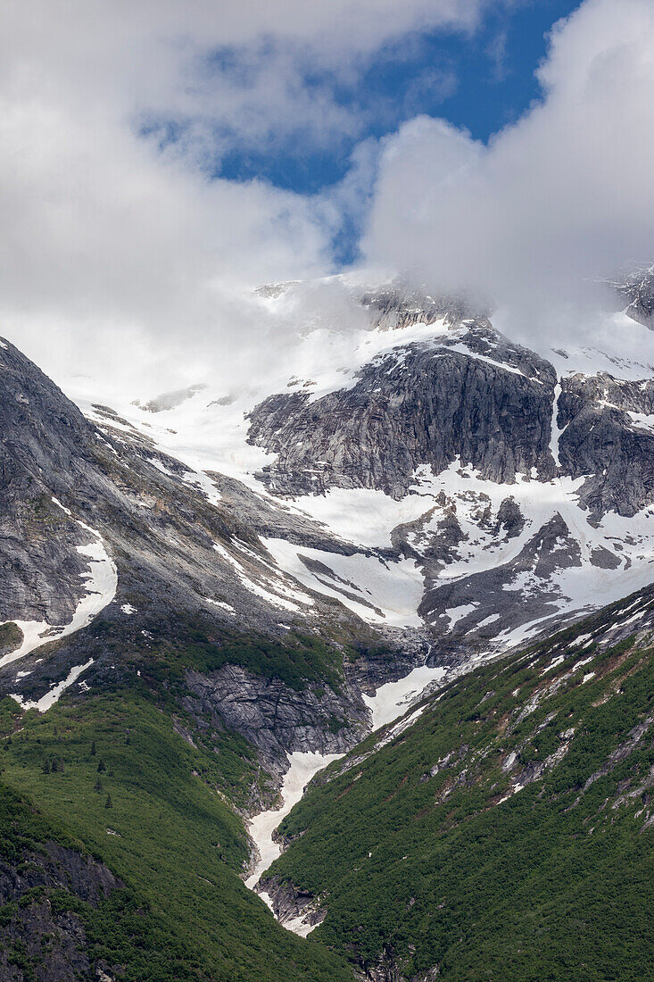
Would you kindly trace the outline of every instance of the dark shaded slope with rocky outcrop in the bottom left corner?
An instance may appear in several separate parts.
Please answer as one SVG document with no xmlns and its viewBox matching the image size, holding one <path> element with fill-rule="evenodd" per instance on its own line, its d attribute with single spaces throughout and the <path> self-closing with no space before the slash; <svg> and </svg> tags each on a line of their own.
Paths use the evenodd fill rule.
<svg viewBox="0 0 654 982">
<path fill-rule="evenodd" d="M 0 880 L 3 979 L 91 977 L 116 955 L 142 977 L 205 977 L 201 959 L 136 891 L 3 782 Z"/>
</svg>

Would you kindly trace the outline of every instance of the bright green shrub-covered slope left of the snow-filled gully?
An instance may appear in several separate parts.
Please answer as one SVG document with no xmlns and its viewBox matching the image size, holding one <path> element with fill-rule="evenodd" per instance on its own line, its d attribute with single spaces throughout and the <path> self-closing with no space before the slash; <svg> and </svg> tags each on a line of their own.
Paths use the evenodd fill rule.
<svg viewBox="0 0 654 982">
<path fill-rule="evenodd" d="M 9 699 L 0 708 L 0 861 L 64 843 L 124 885 L 95 905 L 45 888 L 57 910 L 68 904 L 81 918 L 91 960 L 119 966 L 126 982 L 352 978 L 339 957 L 281 928 L 239 877 L 245 825 L 225 794 L 256 779 L 244 740 L 222 734 L 193 747 L 175 732 L 173 707 L 140 681 L 64 697 L 42 716 L 17 719 Z M 23 909 L 42 894 L 27 893 Z M 42 953 L 28 931 L 27 947 L 11 936 L 12 903 L 0 906 L 0 953 L 17 979 L 35 979 Z"/>
</svg>

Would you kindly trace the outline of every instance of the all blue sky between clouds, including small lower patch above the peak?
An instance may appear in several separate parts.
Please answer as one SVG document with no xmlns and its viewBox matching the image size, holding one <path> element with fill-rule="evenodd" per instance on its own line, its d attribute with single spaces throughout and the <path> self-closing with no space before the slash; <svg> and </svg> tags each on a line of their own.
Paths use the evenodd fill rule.
<svg viewBox="0 0 654 982">
<path fill-rule="evenodd" d="M 461 26 L 409 31 L 368 57 L 356 56 L 354 65 L 328 63 L 323 69 L 310 59 L 307 64 L 297 52 L 276 49 L 270 39 L 254 54 L 238 46 L 214 51 L 215 78 L 242 91 L 256 88 L 262 65 L 279 63 L 286 72 L 295 61 L 302 96 L 325 97 L 343 110 L 344 124 L 321 142 L 301 124 L 252 138 L 236 120 L 219 132 L 212 174 L 236 182 L 262 180 L 300 195 L 324 194 L 347 178 L 357 147 L 372 144 L 369 156 L 374 158 L 384 136 L 422 114 L 447 119 L 485 142 L 539 98 L 535 71 L 547 54 L 549 32 L 577 6 L 572 0 L 497 2 L 471 31 Z M 371 184 L 369 179 L 368 190 Z M 366 214 L 363 189 L 350 206 L 341 202 L 331 241 L 337 268 L 358 258 Z"/>
</svg>

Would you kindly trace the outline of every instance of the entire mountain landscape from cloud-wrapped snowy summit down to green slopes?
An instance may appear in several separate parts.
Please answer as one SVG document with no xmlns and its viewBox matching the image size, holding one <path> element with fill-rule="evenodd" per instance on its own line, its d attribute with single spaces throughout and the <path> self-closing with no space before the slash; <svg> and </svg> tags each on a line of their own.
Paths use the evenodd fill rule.
<svg viewBox="0 0 654 982">
<path fill-rule="evenodd" d="M 542 351 L 276 284 L 284 363 L 113 405 L 1 343 L 2 978 L 654 971 L 650 281 Z"/>
</svg>

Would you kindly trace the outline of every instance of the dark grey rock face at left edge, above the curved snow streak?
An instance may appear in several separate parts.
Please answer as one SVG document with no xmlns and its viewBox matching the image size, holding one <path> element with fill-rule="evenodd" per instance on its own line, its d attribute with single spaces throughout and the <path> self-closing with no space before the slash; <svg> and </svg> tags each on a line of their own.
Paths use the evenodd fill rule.
<svg viewBox="0 0 654 982">
<path fill-rule="evenodd" d="M 88 508 L 92 427 L 25 355 L 0 348 L 0 616 L 70 621 L 92 538 L 53 501 L 71 486 Z M 80 516 L 83 518 L 83 513 Z"/>
</svg>

